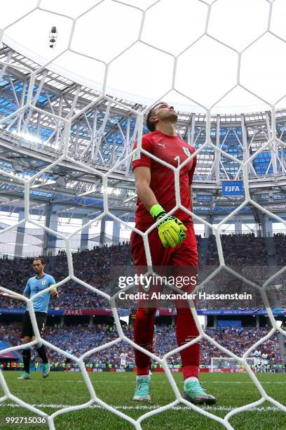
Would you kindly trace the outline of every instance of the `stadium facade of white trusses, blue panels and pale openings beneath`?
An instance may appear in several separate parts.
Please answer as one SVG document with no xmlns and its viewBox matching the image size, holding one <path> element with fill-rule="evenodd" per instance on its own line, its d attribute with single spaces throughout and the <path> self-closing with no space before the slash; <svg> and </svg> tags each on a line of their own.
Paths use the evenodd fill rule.
<svg viewBox="0 0 286 430">
<path fill-rule="evenodd" d="M 135 184 L 130 170 L 131 157 L 125 157 L 132 152 L 138 136 L 136 112 L 142 112 L 145 106 L 123 99 L 102 98 L 98 91 L 43 70 L 36 76 L 32 104 L 27 107 L 30 73 L 40 66 L 4 44 L 0 59 L 7 63 L 1 70 L 1 228 L 8 226 L 3 212 L 16 222 L 22 221 L 24 185 L 20 180 L 27 180 L 41 169 L 45 172 L 35 176 L 29 190 L 31 217 L 55 231 L 59 218 L 61 223 L 69 225 L 76 219 L 79 227 L 84 226 L 102 213 L 100 174 L 112 169 L 107 183 L 108 204 L 109 211 L 117 219 L 104 216 L 95 221 L 95 224 L 100 223 L 96 233 L 88 227 L 83 228 L 81 234 L 72 238 L 72 248 L 118 243 L 120 228 L 128 228 L 118 221 L 127 224 L 134 221 Z M 84 110 L 83 113 L 76 115 L 80 110 Z M 74 120 L 69 130 L 68 160 L 61 159 L 67 126 L 64 120 L 71 118 Z M 285 219 L 286 161 L 282 143 L 286 139 L 286 111 L 276 111 L 275 119 L 277 141 L 271 140 L 271 111 L 211 117 L 211 143 L 223 152 L 210 145 L 198 152 L 193 184 L 193 211 L 197 216 L 216 224 L 243 203 L 243 171 L 239 162 L 250 159 L 247 171 L 251 199 Z M 146 132 L 144 127 L 143 133 Z M 205 144 L 205 115 L 179 112 L 178 132 L 199 150 Z M 121 162 L 123 159 L 125 161 Z M 11 178 L 10 174 L 19 180 Z M 229 188 L 228 191 L 229 184 L 233 190 Z M 109 234 L 106 232 L 108 221 L 112 221 Z M 198 226 L 200 220 L 195 223 Z M 229 224 L 232 224 L 231 228 Z M 251 228 L 247 230 L 245 224 Z M 253 230 L 257 235 L 271 236 L 273 230 L 283 230 L 284 226 L 274 216 L 268 216 L 252 204 L 245 204 L 227 221 L 224 229 L 233 233 Z M 60 237 L 57 241 L 41 228 L 30 226 L 25 229 L 21 225 L 11 231 L 14 231 L 16 246 L 13 249 L 9 245 L 6 252 L 2 247 L 5 254 L 32 256 L 55 254 L 57 249 L 64 249 Z M 26 246 L 23 249 L 24 232 Z M 202 226 L 200 232 L 205 237 L 211 233 L 207 226 Z M 13 242 L 11 235 L 2 237 L 2 243 Z"/>
</svg>

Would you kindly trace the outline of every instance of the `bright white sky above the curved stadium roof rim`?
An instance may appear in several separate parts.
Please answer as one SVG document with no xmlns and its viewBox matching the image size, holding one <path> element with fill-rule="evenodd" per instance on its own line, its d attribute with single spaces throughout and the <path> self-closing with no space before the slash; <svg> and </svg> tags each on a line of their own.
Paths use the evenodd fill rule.
<svg viewBox="0 0 286 430">
<path fill-rule="evenodd" d="M 107 93 L 133 103 L 170 91 L 179 110 L 233 114 L 286 106 L 285 14 L 266 0 L 14 0 L 0 26 L 29 63 L 71 82 L 102 91 L 106 77 Z"/>
</svg>

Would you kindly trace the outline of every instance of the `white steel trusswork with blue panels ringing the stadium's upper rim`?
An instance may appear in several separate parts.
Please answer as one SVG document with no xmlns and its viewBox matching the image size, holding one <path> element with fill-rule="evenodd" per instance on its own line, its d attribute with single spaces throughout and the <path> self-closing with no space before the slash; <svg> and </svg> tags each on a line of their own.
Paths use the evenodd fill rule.
<svg viewBox="0 0 286 430">
<path fill-rule="evenodd" d="M 102 207 L 102 176 L 109 174 L 111 210 L 135 209 L 135 184 L 130 168 L 133 144 L 140 128 L 139 114 L 146 106 L 90 89 L 50 70 L 31 81 L 39 64 L 1 45 L 0 80 L 0 193 L 22 205 L 23 186 L 9 174 L 34 178 L 31 209 L 47 200 L 72 207 Z M 32 87 L 31 87 L 32 84 Z M 31 104 L 27 105 L 32 91 Z M 271 112 L 214 115 L 206 142 L 206 116 L 179 112 L 177 131 L 198 152 L 193 184 L 193 207 L 198 215 L 233 211 L 244 196 L 223 196 L 222 181 L 243 180 L 240 162 L 250 159 L 250 195 L 266 209 L 282 213 L 286 207 L 286 111 L 275 112 L 276 139 L 271 141 Z M 71 120 L 70 129 L 67 120 Z M 147 133 L 143 126 L 143 133 Z M 63 155 L 64 136 L 68 140 Z M 213 146 L 212 146 L 213 145 Z M 203 146 L 203 148 L 202 148 Z M 60 157 L 62 157 L 60 159 Z M 230 158 L 232 157 L 232 158 Z M 48 167 L 51 163 L 58 163 Z M 77 163 L 80 164 L 76 164 Z M 96 169 L 96 170 L 95 170 Z M 64 204 L 62 203 L 64 201 Z M 253 214 L 254 209 L 243 211 Z M 254 214 L 257 218 L 257 214 Z"/>
</svg>

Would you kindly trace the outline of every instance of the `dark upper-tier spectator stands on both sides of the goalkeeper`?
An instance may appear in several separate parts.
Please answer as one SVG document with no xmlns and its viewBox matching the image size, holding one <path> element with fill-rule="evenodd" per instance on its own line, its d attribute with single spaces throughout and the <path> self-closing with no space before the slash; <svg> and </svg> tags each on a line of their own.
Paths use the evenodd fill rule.
<svg viewBox="0 0 286 430">
<path fill-rule="evenodd" d="M 235 309 L 243 313 L 243 309 L 257 308 L 265 309 L 260 293 L 247 284 L 247 280 L 255 285 L 264 285 L 264 282 L 277 273 L 286 263 L 285 253 L 280 253 L 280 249 L 286 246 L 286 236 L 277 235 L 273 238 L 253 237 L 253 235 L 222 235 L 222 248 L 226 266 L 232 268 L 238 275 L 233 275 L 222 268 L 219 273 L 210 276 L 214 269 L 219 266 L 217 248 L 214 236 L 203 239 L 197 237 L 200 265 L 198 269 L 198 279 L 203 284 L 202 292 L 206 294 L 244 294 L 252 295 L 251 299 L 243 300 L 212 300 L 200 298 L 198 300 L 199 310 L 205 309 Z M 268 240 L 273 241 L 274 248 L 269 252 Z M 275 248 L 277 247 L 277 249 Z M 203 254 L 205 249 L 206 254 Z M 239 258 L 238 258 L 239 255 Z M 130 245 L 116 245 L 111 247 L 95 247 L 92 250 L 76 252 L 72 254 L 74 264 L 74 275 L 88 285 L 113 296 L 118 293 L 118 273 L 132 274 L 132 257 Z M 32 259 L 0 259 L 1 273 L 0 284 L 3 287 L 22 294 L 27 279 L 33 275 Z M 205 264 L 207 263 L 207 265 Z M 49 257 L 46 267 L 47 273 L 60 282 L 69 275 L 67 256 L 65 252 Z M 243 275 L 245 280 L 239 278 Z M 60 297 L 57 300 L 50 300 L 50 308 L 62 310 L 83 311 L 90 310 L 90 315 L 100 309 L 109 309 L 110 303 L 99 294 L 91 292 L 79 282 L 68 280 L 60 287 Z M 137 287 L 132 288 L 132 293 L 137 292 Z M 165 293 L 170 294 L 170 288 L 165 289 Z M 285 297 L 285 272 L 274 277 L 269 283 L 266 294 L 272 308 L 282 309 L 286 313 Z M 134 299 L 116 299 L 118 308 L 136 308 L 137 301 Z M 156 304 L 154 304 L 156 306 Z M 1 299 L 0 308 L 24 308 L 20 301 L 11 299 Z M 160 309 L 170 309 L 176 307 L 174 300 L 161 300 L 158 302 Z M 13 312 L 13 311 L 11 311 Z M 95 312 L 96 313 L 96 312 Z"/>
</svg>

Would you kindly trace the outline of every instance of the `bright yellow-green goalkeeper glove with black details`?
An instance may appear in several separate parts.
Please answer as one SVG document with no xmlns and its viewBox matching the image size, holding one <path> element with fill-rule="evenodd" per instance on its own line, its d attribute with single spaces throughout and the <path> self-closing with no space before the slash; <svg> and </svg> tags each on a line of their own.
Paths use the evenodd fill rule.
<svg viewBox="0 0 286 430">
<path fill-rule="evenodd" d="M 166 213 L 160 204 L 154 204 L 150 209 L 150 214 L 155 221 L 158 221 L 158 219 L 163 218 Z M 164 248 L 175 248 L 177 245 L 180 245 L 183 240 L 186 239 L 185 231 L 186 227 L 182 221 L 179 221 L 175 216 L 168 216 L 168 218 L 164 219 L 164 221 L 158 225 L 159 237 Z"/>
</svg>

